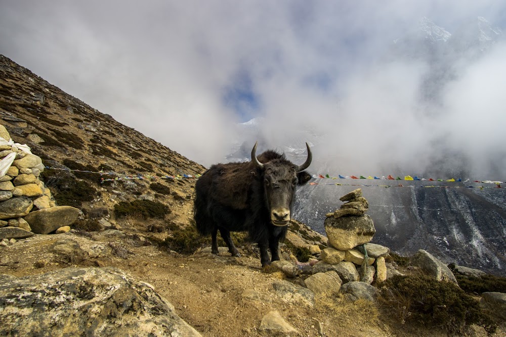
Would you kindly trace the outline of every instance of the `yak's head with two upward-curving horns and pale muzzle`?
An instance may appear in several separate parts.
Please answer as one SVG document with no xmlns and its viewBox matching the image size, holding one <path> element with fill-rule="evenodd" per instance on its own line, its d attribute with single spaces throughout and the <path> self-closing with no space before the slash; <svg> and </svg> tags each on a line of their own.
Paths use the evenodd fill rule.
<svg viewBox="0 0 506 337">
<path fill-rule="evenodd" d="M 308 158 L 300 166 L 286 160 L 284 156 L 274 154 L 266 163 L 261 163 L 256 155 L 257 143 L 251 150 L 251 161 L 262 171 L 264 181 L 264 194 L 270 212 L 271 222 L 275 226 L 286 226 L 290 222 L 290 211 L 295 199 L 295 190 L 298 185 L 309 181 L 311 175 L 304 170 L 309 167 L 313 159 L 308 143 Z M 265 153 L 264 153 L 265 154 Z"/>
</svg>

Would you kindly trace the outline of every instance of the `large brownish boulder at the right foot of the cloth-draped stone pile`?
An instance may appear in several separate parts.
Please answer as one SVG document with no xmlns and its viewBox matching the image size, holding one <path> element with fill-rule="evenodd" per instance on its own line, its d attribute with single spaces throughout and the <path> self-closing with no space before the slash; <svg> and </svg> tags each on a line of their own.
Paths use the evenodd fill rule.
<svg viewBox="0 0 506 337">
<path fill-rule="evenodd" d="M 31 212 L 25 216 L 25 220 L 34 233 L 49 234 L 60 227 L 73 224 L 78 216 L 79 210 L 75 207 L 57 206 Z"/>
</svg>

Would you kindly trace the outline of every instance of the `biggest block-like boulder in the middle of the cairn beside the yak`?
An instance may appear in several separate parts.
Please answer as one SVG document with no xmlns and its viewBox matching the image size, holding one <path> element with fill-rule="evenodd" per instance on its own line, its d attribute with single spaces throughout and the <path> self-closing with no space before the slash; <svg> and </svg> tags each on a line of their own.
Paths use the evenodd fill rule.
<svg viewBox="0 0 506 337">
<path fill-rule="evenodd" d="M 348 251 L 372 240 L 376 232 L 369 215 L 326 218 L 325 232 L 328 243 L 340 251 Z"/>
</svg>

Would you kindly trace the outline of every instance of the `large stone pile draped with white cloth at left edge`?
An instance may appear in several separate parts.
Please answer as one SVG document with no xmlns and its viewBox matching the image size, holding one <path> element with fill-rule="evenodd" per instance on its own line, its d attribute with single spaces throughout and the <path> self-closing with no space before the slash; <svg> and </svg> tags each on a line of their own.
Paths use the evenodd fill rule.
<svg viewBox="0 0 506 337">
<path fill-rule="evenodd" d="M 0 137 L 11 140 L 3 125 L 0 125 Z M 80 211 L 56 205 L 49 188 L 39 180 L 45 168 L 40 157 L 25 152 L 13 141 L 0 145 L 2 160 L 12 153 L 16 154 L 14 161 L 0 177 L 0 246 L 34 234 L 69 231 Z"/>
</svg>

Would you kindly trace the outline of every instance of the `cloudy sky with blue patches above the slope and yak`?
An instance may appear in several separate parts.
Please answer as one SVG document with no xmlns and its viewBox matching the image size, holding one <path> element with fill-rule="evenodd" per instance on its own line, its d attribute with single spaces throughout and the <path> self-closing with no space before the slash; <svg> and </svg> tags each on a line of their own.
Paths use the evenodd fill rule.
<svg viewBox="0 0 506 337">
<path fill-rule="evenodd" d="M 313 139 L 315 160 L 335 173 L 506 180 L 504 43 L 455 60 L 431 105 L 420 104 L 431 65 L 392 56 L 422 17 L 450 33 L 478 16 L 505 30 L 503 1 L 0 0 L 0 9 L 0 54 L 205 166 L 242 140 L 237 123 L 263 117 L 273 147 L 324 135 Z"/>
</svg>

